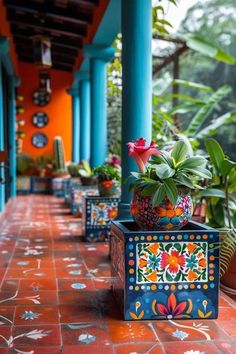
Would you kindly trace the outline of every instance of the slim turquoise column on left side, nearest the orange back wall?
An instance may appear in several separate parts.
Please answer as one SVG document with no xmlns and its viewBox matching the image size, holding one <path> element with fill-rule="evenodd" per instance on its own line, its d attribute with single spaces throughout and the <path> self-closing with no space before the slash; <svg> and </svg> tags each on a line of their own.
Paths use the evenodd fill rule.
<svg viewBox="0 0 236 354">
<path fill-rule="evenodd" d="M 10 168 L 10 196 L 16 196 L 16 110 L 15 110 L 15 77 L 9 76 L 9 168 Z"/>
</svg>

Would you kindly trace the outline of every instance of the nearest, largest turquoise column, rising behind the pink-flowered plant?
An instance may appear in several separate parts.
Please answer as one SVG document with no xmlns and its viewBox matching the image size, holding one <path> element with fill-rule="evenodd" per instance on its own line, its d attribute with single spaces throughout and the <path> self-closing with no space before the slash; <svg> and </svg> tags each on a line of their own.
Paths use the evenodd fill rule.
<svg viewBox="0 0 236 354">
<path fill-rule="evenodd" d="M 119 217 L 129 217 L 126 182 L 137 166 L 127 142 L 152 136 L 152 1 L 122 0 L 122 195 Z"/>
</svg>

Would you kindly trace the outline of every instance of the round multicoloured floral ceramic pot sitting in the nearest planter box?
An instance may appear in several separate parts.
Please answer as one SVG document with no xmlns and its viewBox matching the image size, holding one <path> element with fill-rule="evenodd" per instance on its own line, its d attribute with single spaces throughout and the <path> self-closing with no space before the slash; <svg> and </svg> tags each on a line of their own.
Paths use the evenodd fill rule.
<svg viewBox="0 0 236 354">
<path fill-rule="evenodd" d="M 153 208 L 152 196 L 143 197 L 140 191 L 134 190 L 130 212 L 142 230 L 179 230 L 191 219 L 193 205 L 190 195 L 180 193 L 176 205 L 166 197 Z"/>
</svg>

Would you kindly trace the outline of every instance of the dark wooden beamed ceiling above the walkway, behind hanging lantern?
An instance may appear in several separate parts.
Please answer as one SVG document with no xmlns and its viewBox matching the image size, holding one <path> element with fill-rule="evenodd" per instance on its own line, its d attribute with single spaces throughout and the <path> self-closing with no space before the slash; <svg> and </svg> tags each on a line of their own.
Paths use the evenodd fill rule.
<svg viewBox="0 0 236 354">
<path fill-rule="evenodd" d="M 53 68 L 73 71 L 100 0 L 4 0 L 19 61 L 34 62 L 32 37 L 51 39 Z"/>
</svg>

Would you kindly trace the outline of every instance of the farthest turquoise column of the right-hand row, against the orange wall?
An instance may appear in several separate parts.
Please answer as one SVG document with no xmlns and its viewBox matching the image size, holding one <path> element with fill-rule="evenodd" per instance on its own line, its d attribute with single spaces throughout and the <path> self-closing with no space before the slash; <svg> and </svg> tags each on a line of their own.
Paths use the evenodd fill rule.
<svg viewBox="0 0 236 354">
<path fill-rule="evenodd" d="M 72 97 L 72 161 L 80 162 L 80 97 L 78 89 L 67 90 Z"/>
</svg>

